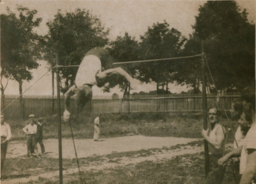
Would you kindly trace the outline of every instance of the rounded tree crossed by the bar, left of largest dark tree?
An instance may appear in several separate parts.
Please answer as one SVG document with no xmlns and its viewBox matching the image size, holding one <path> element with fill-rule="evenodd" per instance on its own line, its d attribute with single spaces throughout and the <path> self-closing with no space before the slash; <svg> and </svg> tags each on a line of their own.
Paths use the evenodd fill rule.
<svg viewBox="0 0 256 184">
<path fill-rule="evenodd" d="M 148 27 L 148 31 L 140 37 L 143 59 L 161 59 L 180 55 L 186 38 L 178 30 L 170 29 L 169 26 L 166 21 L 157 22 L 152 27 Z M 160 93 L 160 85 L 162 89 L 166 85 L 166 93 L 168 93 L 168 83 L 173 81 L 175 68 L 176 64 L 171 62 L 142 63 L 139 69 L 139 79 L 146 83 L 150 80 L 155 81 L 157 93 Z"/>
</svg>

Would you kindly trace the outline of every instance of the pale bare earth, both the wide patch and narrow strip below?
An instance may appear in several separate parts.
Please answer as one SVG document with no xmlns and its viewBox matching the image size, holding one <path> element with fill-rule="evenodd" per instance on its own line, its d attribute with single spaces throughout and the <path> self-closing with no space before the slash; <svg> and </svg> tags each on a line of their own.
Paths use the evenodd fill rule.
<svg viewBox="0 0 256 184">
<path fill-rule="evenodd" d="M 104 138 L 96 142 L 92 139 L 75 139 L 76 151 L 78 158 L 84 158 L 88 156 L 100 155 L 104 157 L 106 154 L 113 152 L 128 152 L 138 150 L 148 150 L 150 148 L 159 148 L 160 152 L 143 157 L 122 157 L 118 158 L 118 162 L 109 162 L 108 159 L 99 163 L 92 163 L 89 166 L 80 166 L 82 171 L 86 170 L 100 170 L 113 168 L 115 166 L 125 166 L 127 164 L 136 164 L 145 160 L 161 161 L 163 159 L 171 159 L 173 156 L 199 153 L 203 151 L 203 147 L 185 146 L 175 150 L 166 150 L 164 147 L 170 147 L 177 144 L 188 144 L 189 142 L 200 139 L 196 138 L 177 138 L 177 137 L 145 137 L 142 135 L 116 137 L 116 138 Z M 47 157 L 58 158 L 58 139 L 44 140 L 44 146 Z M 40 146 L 39 146 L 40 147 Z M 18 156 L 24 156 L 26 154 L 26 141 L 12 141 L 8 145 L 7 159 Z M 62 158 L 75 158 L 74 146 L 72 139 L 62 139 Z M 63 171 L 63 176 L 78 172 L 78 169 L 70 168 Z M 38 176 L 30 176 L 28 178 L 15 178 L 10 180 L 2 180 L 1 184 L 15 184 L 20 182 L 28 182 L 30 180 L 38 180 L 38 177 L 53 178 L 58 177 L 59 171 L 46 172 Z"/>
</svg>

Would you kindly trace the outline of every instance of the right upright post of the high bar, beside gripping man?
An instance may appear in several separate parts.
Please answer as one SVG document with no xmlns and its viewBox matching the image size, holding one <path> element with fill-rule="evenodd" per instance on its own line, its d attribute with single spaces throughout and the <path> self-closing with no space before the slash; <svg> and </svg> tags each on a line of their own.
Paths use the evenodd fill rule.
<svg viewBox="0 0 256 184">
<path fill-rule="evenodd" d="M 201 56 L 201 67 L 202 67 L 202 92 L 203 92 L 203 119 L 204 119 L 204 130 L 207 130 L 207 101 L 206 101 L 206 76 L 205 76 L 205 60 L 204 60 L 204 41 L 202 41 L 202 56 Z M 208 142 L 204 140 L 204 160 L 205 160 L 205 176 L 208 175 L 209 172 L 209 150 L 208 150 Z"/>
</svg>

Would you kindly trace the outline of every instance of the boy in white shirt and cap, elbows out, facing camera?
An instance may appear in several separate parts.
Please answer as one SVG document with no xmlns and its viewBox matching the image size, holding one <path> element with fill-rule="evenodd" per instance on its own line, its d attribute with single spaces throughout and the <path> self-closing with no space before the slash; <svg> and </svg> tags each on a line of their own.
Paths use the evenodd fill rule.
<svg viewBox="0 0 256 184">
<path fill-rule="evenodd" d="M 37 126 L 36 126 L 36 121 L 34 118 L 30 118 L 28 120 L 29 124 L 26 125 L 22 130 L 24 133 L 26 133 L 27 137 L 27 147 L 28 147 L 28 157 L 30 155 L 34 156 L 34 150 L 36 146 L 36 131 L 37 131 Z"/>
</svg>

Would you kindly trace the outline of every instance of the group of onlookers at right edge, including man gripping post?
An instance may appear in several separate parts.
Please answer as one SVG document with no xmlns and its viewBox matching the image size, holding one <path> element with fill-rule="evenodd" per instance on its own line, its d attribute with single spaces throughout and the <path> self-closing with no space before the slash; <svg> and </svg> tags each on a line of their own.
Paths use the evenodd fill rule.
<svg viewBox="0 0 256 184">
<path fill-rule="evenodd" d="M 256 123 L 255 87 L 246 87 L 241 99 L 232 103 L 230 113 L 239 125 L 234 140 L 234 150 L 224 154 L 227 140 L 226 129 L 219 124 L 217 107 L 208 110 L 210 129 L 202 130 L 209 145 L 209 172 L 206 184 L 221 184 L 226 171 L 226 162 L 233 158 L 233 173 L 236 184 L 256 183 Z"/>
</svg>

